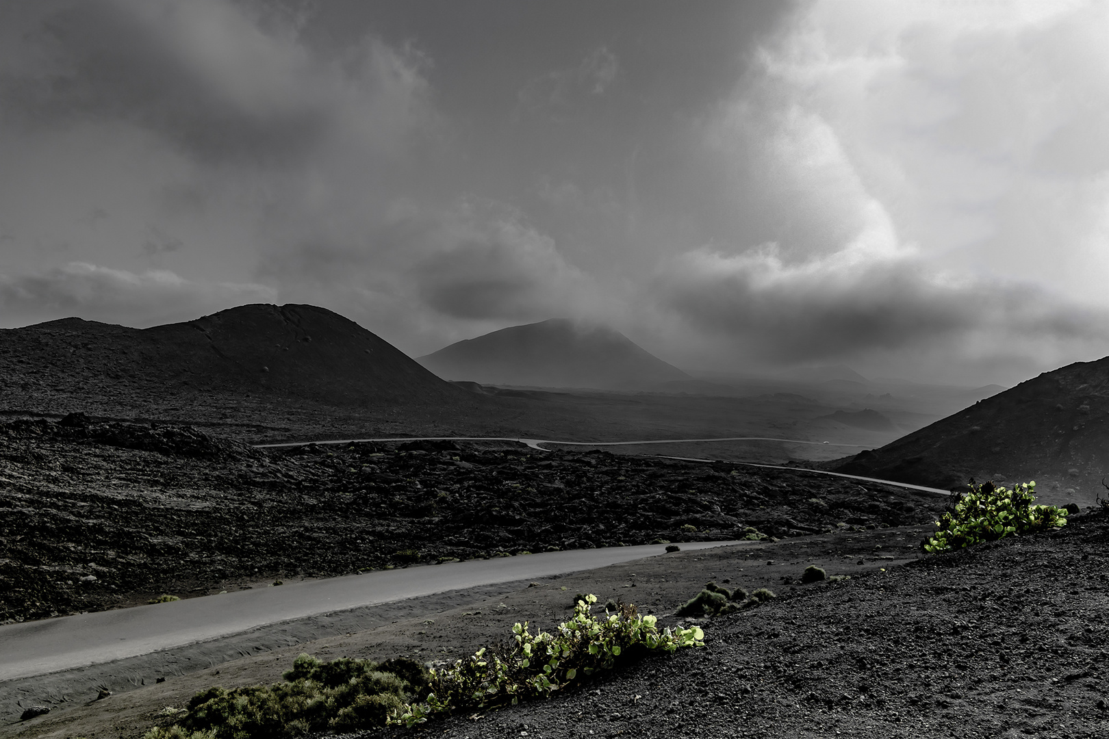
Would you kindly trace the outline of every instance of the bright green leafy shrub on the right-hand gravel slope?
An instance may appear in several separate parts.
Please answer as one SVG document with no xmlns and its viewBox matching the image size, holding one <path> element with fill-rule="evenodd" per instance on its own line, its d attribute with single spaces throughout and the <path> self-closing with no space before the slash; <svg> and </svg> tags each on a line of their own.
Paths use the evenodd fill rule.
<svg viewBox="0 0 1109 739">
<path fill-rule="evenodd" d="M 993 482 L 975 484 L 971 480 L 968 486 L 970 491 L 955 495 L 936 522 L 939 531 L 923 542 L 925 552 L 947 552 L 1067 525 L 1066 511 L 1035 503 L 1035 482 L 1022 482 L 1008 490 Z"/>
</svg>

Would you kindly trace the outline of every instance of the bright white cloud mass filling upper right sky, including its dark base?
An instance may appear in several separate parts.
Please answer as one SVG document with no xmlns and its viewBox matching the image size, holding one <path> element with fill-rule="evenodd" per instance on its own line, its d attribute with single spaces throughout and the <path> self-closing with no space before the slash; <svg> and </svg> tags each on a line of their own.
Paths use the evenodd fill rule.
<svg viewBox="0 0 1109 739">
<path fill-rule="evenodd" d="M 736 355 L 1105 355 L 1105 38 L 1092 2 L 813 3 L 705 129 L 776 244 L 688 250 L 660 292 Z"/>
</svg>

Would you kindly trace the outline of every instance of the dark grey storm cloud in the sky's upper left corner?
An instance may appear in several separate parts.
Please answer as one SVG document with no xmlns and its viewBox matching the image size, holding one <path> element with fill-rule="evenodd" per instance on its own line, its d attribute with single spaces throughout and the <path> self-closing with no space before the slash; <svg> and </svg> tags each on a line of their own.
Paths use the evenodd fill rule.
<svg viewBox="0 0 1109 739">
<path fill-rule="evenodd" d="M 9 117 L 21 114 L 29 124 L 129 121 L 207 162 L 301 160 L 328 124 L 313 100 L 314 70 L 242 21 L 203 1 L 57 8 L 24 21 L 24 43 L 40 65 L 6 74 L 0 94 Z M 218 23 L 241 35 L 242 47 L 205 60 L 212 50 L 203 34 Z"/>
</svg>

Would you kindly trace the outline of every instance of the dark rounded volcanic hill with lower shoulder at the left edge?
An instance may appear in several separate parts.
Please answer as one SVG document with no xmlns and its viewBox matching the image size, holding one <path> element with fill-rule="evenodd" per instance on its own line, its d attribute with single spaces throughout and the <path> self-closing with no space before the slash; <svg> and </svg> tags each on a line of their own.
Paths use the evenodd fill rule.
<svg viewBox="0 0 1109 739">
<path fill-rule="evenodd" d="M 248 399 L 449 408 L 472 393 L 324 308 L 247 305 L 134 329 L 80 318 L 0 330 L 0 411 L 153 414 Z M 187 410 L 187 408 L 186 408 Z"/>
</svg>

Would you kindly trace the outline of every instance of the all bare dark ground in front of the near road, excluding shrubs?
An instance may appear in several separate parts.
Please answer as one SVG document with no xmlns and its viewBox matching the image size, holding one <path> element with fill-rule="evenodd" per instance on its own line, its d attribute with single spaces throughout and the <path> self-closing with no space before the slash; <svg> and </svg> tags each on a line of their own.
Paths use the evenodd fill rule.
<svg viewBox="0 0 1109 739">
<path fill-rule="evenodd" d="M 321 659 L 449 661 L 502 643 L 515 622 L 549 628 L 564 620 L 578 592 L 640 604 L 661 625 L 701 624 L 708 646 L 628 665 L 550 700 L 429 722 L 419 731 L 358 736 L 1107 736 L 1109 514 L 1075 516 L 1058 533 L 920 560 L 916 544 L 925 530 L 680 552 L 334 614 L 306 628 L 286 624 L 227 645 L 26 681 L 7 691 L 9 699 L 19 695 L 23 706 L 53 710 L 19 722 L 6 701 L 11 718 L 0 736 L 138 739 L 172 722 L 165 707 L 180 708 L 213 685 L 277 681 L 302 651 Z M 852 579 L 798 584 L 811 563 Z M 779 597 L 711 620 L 670 615 L 706 581 L 770 587 Z M 187 671 L 196 663 L 201 669 Z M 203 669 L 205 663 L 212 666 Z M 160 676 L 166 681 L 154 684 Z M 94 700 L 100 685 L 116 695 Z M 0 694 L 6 687 L 0 684 Z"/>
</svg>

